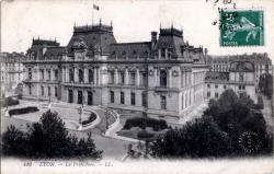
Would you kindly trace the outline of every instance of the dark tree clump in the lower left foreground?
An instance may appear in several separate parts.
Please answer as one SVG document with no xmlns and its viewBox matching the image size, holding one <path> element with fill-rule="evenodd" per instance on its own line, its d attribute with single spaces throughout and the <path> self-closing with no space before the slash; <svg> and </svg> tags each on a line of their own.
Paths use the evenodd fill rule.
<svg viewBox="0 0 274 174">
<path fill-rule="evenodd" d="M 88 139 L 78 140 L 68 134 L 65 123 L 58 114 L 47 111 L 38 123 L 27 125 L 27 132 L 10 126 L 3 135 L 3 151 L 7 155 L 28 158 L 89 158 L 101 159 L 102 151 L 96 150 L 91 134 Z M 21 146 L 23 150 L 21 150 Z"/>
</svg>

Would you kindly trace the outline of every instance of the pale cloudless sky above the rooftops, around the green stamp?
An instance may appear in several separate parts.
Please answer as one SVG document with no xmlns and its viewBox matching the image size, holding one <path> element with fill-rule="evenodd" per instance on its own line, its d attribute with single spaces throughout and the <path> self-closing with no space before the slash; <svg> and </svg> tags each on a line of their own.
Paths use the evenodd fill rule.
<svg viewBox="0 0 274 174">
<path fill-rule="evenodd" d="M 184 40 L 208 48 L 210 55 L 267 53 L 274 60 L 274 1 L 272 0 L 9 0 L 1 4 L 1 51 L 23 51 L 32 38 L 57 39 L 66 46 L 73 25 L 99 23 L 114 27 L 118 43 L 150 40 L 150 32 L 159 33 L 172 24 L 183 30 Z M 99 11 L 92 5 L 100 7 Z M 217 8 L 263 10 L 264 46 L 220 47 Z M 93 19 L 93 20 L 92 20 Z"/>
</svg>

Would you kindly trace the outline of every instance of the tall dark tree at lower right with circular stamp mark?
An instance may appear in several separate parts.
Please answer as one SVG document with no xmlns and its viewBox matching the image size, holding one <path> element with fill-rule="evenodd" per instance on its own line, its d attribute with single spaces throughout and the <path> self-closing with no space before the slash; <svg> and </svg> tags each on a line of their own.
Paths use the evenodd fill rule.
<svg viewBox="0 0 274 174">
<path fill-rule="evenodd" d="M 229 136 L 230 153 L 236 155 L 247 153 L 242 144 L 239 143 L 242 135 L 250 132 L 256 135 L 260 144 L 254 144 L 249 154 L 264 153 L 270 149 L 267 147 L 269 138 L 266 124 L 260 109 L 254 102 L 243 94 L 239 98 L 232 90 L 225 91 L 217 101 L 210 101 L 208 108 L 204 112 L 205 116 L 212 116 L 220 130 Z M 250 136 L 249 136 L 250 137 Z M 264 144 L 264 146 L 262 146 Z"/>
</svg>

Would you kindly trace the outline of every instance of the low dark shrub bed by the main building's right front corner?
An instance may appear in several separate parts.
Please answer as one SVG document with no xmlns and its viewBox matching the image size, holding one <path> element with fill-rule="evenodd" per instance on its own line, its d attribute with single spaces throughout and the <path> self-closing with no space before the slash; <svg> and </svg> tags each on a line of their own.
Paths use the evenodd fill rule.
<svg viewBox="0 0 274 174">
<path fill-rule="evenodd" d="M 168 124 L 163 119 L 135 117 L 126 120 L 124 129 L 130 129 L 132 127 L 144 128 L 144 125 L 146 125 L 146 127 L 152 127 L 155 131 L 168 128 Z"/>
</svg>

